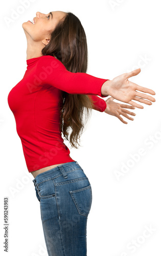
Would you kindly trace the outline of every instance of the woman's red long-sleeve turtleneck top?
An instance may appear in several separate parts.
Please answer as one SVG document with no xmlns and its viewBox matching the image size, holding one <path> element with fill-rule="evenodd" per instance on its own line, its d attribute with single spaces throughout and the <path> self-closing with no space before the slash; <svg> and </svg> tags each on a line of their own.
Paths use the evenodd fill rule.
<svg viewBox="0 0 161 256">
<path fill-rule="evenodd" d="M 101 87 L 107 80 L 67 71 L 61 61 L 50 55 L 27 60 L 25 75 L 9 92 L 8 104 L 29 173 L 75 161 L 61 137 L 61 91 L 87 94 L 95 100 L 94 109 L 103 112 L 106 102 L 96 95 L 106 97 L 101 94 Z"/>
</svg>

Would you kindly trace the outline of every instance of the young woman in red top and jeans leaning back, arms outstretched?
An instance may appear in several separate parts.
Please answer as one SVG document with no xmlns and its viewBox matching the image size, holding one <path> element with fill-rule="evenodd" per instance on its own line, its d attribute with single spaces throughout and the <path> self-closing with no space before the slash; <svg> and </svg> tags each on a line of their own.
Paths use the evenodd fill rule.
<svg viewBox="0 0 161 256">
<path fill-rule="evenodd" d="M 143 108 L 132 100 L 150 105 L 155 99 L 146 93 L 155 92 L 128 80 L 140 69 L 113 80 L 86 74 L 86 36 L 71 12 L 37 12 L 22 28 L 27 37 L 27 70 L 10 91 L 8 103 L 34 177 L 48 254 L 85 256 L 91 186 L 81 166 L 70 157 L 61 133 L 77 148 L 84 111 L 87 116 L 95 109 L 127 123 L 120 115 L 133 120 L 128 115 L 135 114 L 126 109 Z M 111 98 L 105 101 L 97 95 Z"/>
</svg>

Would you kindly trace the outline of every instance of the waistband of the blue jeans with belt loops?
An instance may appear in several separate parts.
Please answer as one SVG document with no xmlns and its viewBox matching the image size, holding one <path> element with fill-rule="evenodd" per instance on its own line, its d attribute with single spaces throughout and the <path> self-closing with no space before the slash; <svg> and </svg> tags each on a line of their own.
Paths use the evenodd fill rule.
<svg viewBox="0 0 161 256">
<path fill-rule="evenodd" d="M 47 181 L 49 179 L 57 178 L 60 175 L 63 175 L 64 179 L 66 179 L 67 173 L 75 169 L 82 169 L 77 161 L 60 164 L 52 169 L 38 174 L 36 178 L 33 179 L 34 185 L 37 187 L 39 183 Z"/>
</svg>

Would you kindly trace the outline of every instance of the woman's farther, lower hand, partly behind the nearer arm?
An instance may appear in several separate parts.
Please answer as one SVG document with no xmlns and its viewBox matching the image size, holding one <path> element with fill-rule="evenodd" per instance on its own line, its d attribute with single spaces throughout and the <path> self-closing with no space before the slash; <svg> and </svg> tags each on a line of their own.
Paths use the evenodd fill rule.
<svg viewBox="0 0 161 256">
<path fill-rule="evenodd" d="M 114 102 L 113 99 L 114 99 L 113 97 L 110 97 L 107 100 L 105 100 L 107 104 L 107 108 L 105 109 L 104 112 L 109 115 L 118 117 L 120 121 L 126 124 L 127 122 L 124 121 L 120 115 L 125 116 L 129 120 L 134 120 L 132 117 L 129 117 L 127 114 L 132 116 L 135 116 L 136 114 L 125 109 L 135 109 L 135 107 Z"/>
</svg>

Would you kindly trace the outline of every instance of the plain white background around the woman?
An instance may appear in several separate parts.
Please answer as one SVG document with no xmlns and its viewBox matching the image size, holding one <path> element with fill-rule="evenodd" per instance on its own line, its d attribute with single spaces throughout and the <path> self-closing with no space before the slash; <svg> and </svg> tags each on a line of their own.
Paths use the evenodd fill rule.
<svg viewBox="0 0 161 256">
<path fill-rule="evenodd" d="M 22 23 L 37 11 L 58 10 L 71 11 L 81 20 L 88 44 L 88 74 L 112 80 L 141 68 L 129 80 L 156 93 L 152 105 L 142 103 L 144 109 L 133 110 L 133 121 L 122 116 L 128 124 L 93 110 L 81 147 L 76 150 L 64 141 L 93 190 L 87 255 L 160 255 L 160 1 L 32 0 L 7 26 L 4 18 L 11 18 L 22 2 L 1 4 L 1 255 L 48 255 L 33 176 L 28 173 L 7 97 L 27 67 Z M 138 155 L 141 151 L 144 154 Z M 121 176 L 117 178 L 116 173 Z M 3 249 L 4 197 L 9 197 L 8 254 Z M 151 233 L 145 231 L 150 226 Z"/>
</svg>

